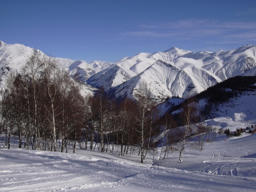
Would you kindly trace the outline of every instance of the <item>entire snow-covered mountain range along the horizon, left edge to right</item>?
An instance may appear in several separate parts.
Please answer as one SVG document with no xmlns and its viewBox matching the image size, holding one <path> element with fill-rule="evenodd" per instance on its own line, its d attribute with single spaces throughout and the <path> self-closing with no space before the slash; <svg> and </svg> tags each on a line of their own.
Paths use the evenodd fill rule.
<svg viewBox="0 0 256 192">
<path fill-rule="evenodd" d="M 5 90 L 8 73 L 19 72 L 34 51 L 44 54 L 21 44 L 0 41 L 0 93 Z M 172 96 L 194 96 L 230 77 L 256 76 L 255 45 L 197 53 L 172 47 L 164 52 L 139 53 L 114 63 L 56 59 L 71 78 L 82 82 L 86 93 L 103 87 L 117 98 L 134 98 L 140 82 L 145 81 L 157 102 Z"/>
</svg>

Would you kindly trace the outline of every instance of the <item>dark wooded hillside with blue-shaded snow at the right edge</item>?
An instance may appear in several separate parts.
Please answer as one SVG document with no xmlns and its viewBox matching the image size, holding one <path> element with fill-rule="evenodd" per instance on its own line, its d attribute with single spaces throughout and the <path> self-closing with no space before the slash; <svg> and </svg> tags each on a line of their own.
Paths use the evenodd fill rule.
<svg viewBox="0 0 256 192">
<path fill-rule="evenodd" d="M 194 99 L 201 103 L 201 114 L 205 119 L 222 116 L 236 121 L 256 119 L 255 83 L 256 76 L 236 76 L 208 88 Z"/>
</svg>

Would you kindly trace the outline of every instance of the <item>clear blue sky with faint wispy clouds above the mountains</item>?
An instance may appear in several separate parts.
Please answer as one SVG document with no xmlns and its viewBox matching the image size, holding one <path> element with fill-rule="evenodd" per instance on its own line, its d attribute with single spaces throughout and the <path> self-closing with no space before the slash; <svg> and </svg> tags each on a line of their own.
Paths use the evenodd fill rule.
<svg viewBox="0 0 256 192">
<path fill-rule="evenodd" d="M 256 44 L 255 0 L 0 0 L 0 40 L 73 60 L 115 62 L 172 46 Z"/>
</svg>

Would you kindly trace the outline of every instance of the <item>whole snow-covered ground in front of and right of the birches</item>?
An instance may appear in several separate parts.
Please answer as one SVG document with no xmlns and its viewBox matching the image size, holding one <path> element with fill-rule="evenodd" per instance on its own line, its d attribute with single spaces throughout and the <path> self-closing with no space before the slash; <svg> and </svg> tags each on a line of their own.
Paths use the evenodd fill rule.
<svg viewBox="0 0 256 192">
<path fill-rule="evenodd" d="M 187 150 L 183 162 L 171 152 L 146 163 L 140 157 L 77 150 L 77 154 L 0 148 L 0 191 L 207 191 L 256 190 L 256 134 L 216 134 L 203 150 Z M 159 151 L 160 149 L 158 149 Z M 72 148 L 70 148 L 72 151 Z"/>
</svg>

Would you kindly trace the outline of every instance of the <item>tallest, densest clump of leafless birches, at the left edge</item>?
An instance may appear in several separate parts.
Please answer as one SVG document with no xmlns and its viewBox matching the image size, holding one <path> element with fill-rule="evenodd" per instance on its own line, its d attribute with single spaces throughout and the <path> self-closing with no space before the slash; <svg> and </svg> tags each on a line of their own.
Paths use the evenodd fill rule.
<svg viewBox="0 0 256 192">
<path fill-rule="evenodd" d="M 19 148 L 61 151 L 67 142 L 76 141 L 82 126 L 83 98 L 76 83 L 52 57 L 34 53 L 20 74 L 11 74 L 1 104 L 1 130 L 19 138 Z M 60 131 L 61 130 L 61 131 Z M 60 150 L 60 149 L 58 149 Z"/>
</svg>

